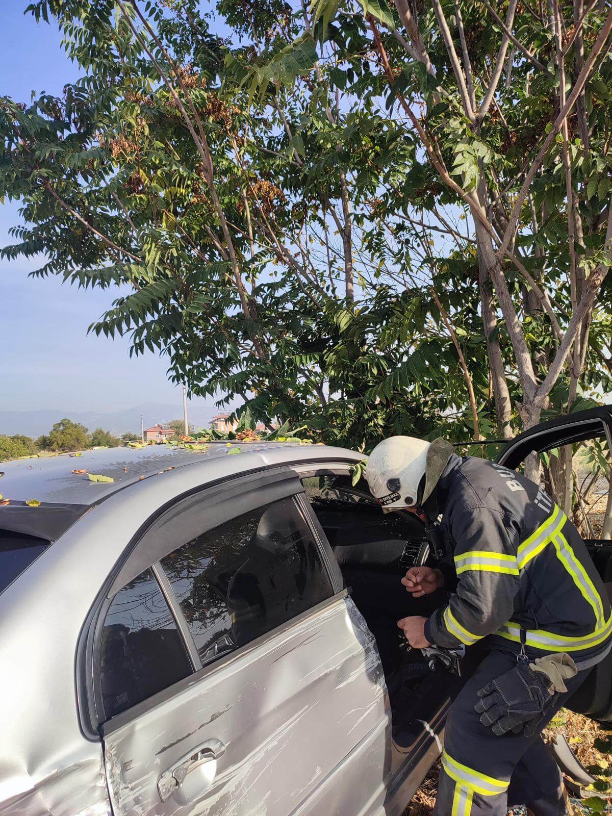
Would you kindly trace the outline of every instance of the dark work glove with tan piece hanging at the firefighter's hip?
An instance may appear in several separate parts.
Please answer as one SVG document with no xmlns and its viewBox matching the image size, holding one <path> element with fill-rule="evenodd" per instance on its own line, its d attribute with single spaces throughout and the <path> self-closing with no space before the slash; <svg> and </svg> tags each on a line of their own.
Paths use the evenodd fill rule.
<svg viewBox="0 0 612 816">
<path fill-rule="evenodd" d="M 567 690 L 563 680 L 576 671 L 568 654 L 546 655 L 535 663 L 519 662 L 477 692 L 480 699 L 474 710 L 481 715 L 482 725 L 497 736 L 512 731 L 532 737 L 560 692 Z"/>
</svg>

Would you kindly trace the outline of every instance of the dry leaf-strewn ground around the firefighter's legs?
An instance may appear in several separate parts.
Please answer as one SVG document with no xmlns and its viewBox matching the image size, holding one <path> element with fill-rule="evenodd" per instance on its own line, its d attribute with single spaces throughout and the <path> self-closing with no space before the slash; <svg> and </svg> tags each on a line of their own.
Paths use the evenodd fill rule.
<svg viewBox="0 0 612 816">
<path fill-rule="evenodd" d="M 605 767 L 609 764 L 607 757 L 593 747 L 597 731 L 598 726 L 592 720 L 563 708 L 546 730 L 545 736 L 564 734 L 583 765 L 603 765 Z M 436 801 L 439 772 L 440 764 L 437 763 L 410 802 L 405 816 L 431 816 Z M 508 816 L 521 816 L 521 814 L 525 814 L 525 809 L 515 808 L 508 811 Z"/>
</svg>

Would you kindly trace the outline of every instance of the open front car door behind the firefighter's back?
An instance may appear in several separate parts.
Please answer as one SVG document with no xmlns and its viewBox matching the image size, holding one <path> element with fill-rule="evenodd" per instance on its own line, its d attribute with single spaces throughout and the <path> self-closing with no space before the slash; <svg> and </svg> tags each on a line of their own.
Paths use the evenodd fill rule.
<svg viewBox="0 0 612 816">
<path fill-rule="evenodd" d="M 612 406 L 536 425 L 508 442 L 497 461 L 521 470 L 530 455 L 539 458 L 544 489 L 587 542 L 612 599 Z M 592 670 L 567 707 L 612 723 L 612 652 Z"/>
</svg>

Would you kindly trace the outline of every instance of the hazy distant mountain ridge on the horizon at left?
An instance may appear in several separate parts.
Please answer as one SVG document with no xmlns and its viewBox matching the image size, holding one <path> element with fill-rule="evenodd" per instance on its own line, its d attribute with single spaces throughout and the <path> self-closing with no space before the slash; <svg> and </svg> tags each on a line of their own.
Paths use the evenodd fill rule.
<svg viewBox="0 0 612 816">
<path fill-rule="evenodd" d="M 214 401 L 193 401 L 188 403 L 187 415 L 190 425 L 206 428 L 219 410 Z M 69 409 L 46 408 L 42 410 L 0 410 L 0 434 L 11 436 L 14 433 L 24 433 L 27 437 L 39 437 L 42 433 L 51 430 L 51 426 L 60 419 L 67 417 L 73 422 L 80 422 L 90 431 L 94 428 L 104 428 L 116 434 L 126 431 L 140 433 L 140 415 L 144 419 L 144 427 L 149 428 L 158 422 L 170 422 L 171 419 L 182 419 L 183 406 L 170 405 L 162 402 L 146 402 L 140 406 L 133 406 L 118 411 L 74 411 Z"/>
</svg>

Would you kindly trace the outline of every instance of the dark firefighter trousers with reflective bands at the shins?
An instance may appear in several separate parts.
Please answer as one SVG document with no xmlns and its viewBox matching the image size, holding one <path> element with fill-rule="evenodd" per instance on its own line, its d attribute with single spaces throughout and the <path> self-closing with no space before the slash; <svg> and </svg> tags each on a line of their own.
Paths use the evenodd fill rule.
<svg viewBox="0 0 612 816">
<path fill-rule="evenodd" d="M 535 816 L 565 816 L 561 773 L 540 734 L 495 736 L 474 711 L 477 691 L 516 665 L 512 652 L 486 654 L 450 706 L 434 816 L 506 816 L 526 805 Z M 566 681 L 548 720 L 586 680 L 589 670 Z"/>
</svg>

